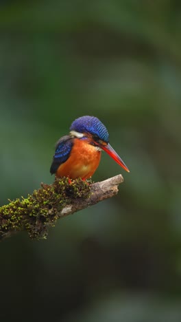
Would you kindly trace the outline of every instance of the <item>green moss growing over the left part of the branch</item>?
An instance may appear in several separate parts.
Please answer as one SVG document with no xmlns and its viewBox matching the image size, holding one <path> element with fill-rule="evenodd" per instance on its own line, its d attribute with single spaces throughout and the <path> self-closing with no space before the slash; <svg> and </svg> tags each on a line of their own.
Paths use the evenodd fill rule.
<svg viewBox="0 0 181 322">
<path fill-rule="evenodd" d="M 62 208 L 89 195 L 90 185 L 80 178 L 71 183 L 62 178 L 51 185 L 41 184 L 41 189 L 27 198 L 10 201 L 0 208 L 0 239 L 18 230 L 27 230 L 32 239 L 46 238 L 49 226 L 55 225 Z"/>
</svg>

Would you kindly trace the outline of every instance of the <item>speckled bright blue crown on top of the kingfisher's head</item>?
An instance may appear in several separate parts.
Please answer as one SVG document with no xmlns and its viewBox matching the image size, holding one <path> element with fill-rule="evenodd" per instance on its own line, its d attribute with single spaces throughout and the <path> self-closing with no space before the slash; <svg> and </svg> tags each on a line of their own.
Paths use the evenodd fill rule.
<svg viewBox="0 0 181 322">
<path fill-rule="evenodd" d="M 82 116 L 81 118 L 77 118 L 71 124 L 70 130 L 80 133 L 90 133 L 99 140 L 106 143 L 109 142 L 108 130 L 98 118 L 95 118 L 95 116 Z"/>
</svg>

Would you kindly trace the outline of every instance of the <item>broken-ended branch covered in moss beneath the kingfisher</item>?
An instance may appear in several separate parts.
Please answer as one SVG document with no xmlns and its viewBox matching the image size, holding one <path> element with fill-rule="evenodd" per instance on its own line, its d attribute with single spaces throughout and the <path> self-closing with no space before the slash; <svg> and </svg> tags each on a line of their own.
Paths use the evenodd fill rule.
<svg viewBox="0 0 181 322">
<path fill-rule="evenodd" d="M 117 175 L 93 184 L 81 179 L 70 184 L 67 178 L 41 184 L 41 188 L 27 198 L 1 206 L 0 239 L 20 230 L 27 230 L 32 239 L 46 238 L 49 226 L 54 226 L 58 218 L 113 197 L 121 182 L 122 175 Z"/>
</svg>

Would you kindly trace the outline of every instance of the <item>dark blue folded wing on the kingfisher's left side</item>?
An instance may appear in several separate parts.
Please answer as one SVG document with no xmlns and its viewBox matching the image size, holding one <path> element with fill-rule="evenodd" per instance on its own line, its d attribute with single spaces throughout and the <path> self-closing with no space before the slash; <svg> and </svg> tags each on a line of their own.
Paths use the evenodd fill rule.
<svg viewBox="0 0 181 322">
<path fill-rule="evenodd" d="M 53 155 L 53 161 L 50 167 L 50 173 L 56 173 L 60 164 L 64 163 L 71 153 L 73 139 L 70 136 L 63 136 L 56 143 L 56 152 Z"/>
</svg>

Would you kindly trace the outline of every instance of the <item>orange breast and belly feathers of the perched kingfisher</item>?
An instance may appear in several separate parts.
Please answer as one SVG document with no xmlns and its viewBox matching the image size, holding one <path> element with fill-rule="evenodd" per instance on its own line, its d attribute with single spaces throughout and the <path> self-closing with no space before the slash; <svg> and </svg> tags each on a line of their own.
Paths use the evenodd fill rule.
<svg viewBox="0 0 181 322">
<path fill-rule="evenodd" d="M 95 173 L 101 160 L 101 151 L 88 143 L 88 140 L 75 138 L 69 159 L 60 164 L 56 171 L 58 178 L 69 177 L 74 180 L 80 177 L 86 180 Z"/>
</svg>

